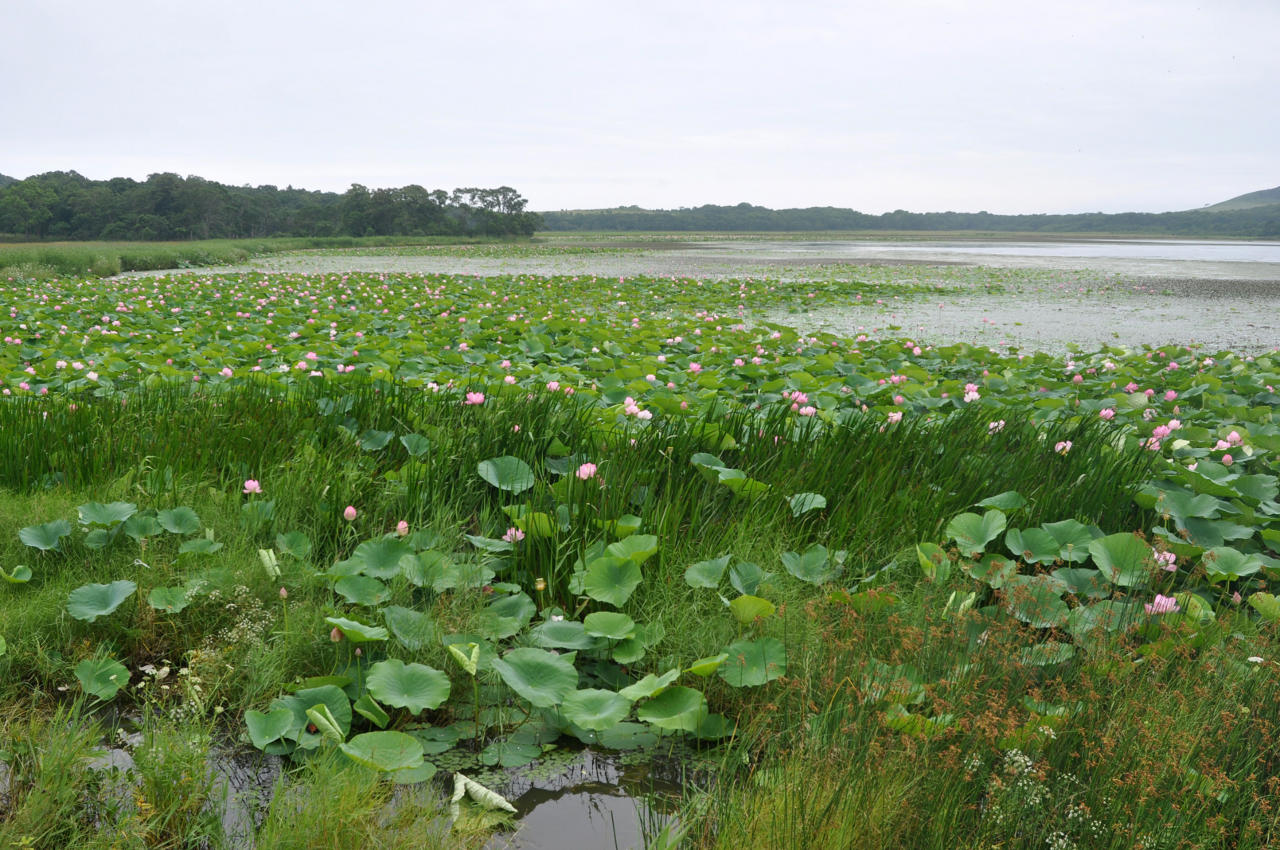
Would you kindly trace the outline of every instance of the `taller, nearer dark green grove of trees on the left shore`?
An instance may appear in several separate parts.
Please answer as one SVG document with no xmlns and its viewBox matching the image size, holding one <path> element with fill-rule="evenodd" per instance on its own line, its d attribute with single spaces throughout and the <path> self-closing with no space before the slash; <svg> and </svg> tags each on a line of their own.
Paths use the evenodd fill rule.
<svg viewBox="0 0 1280 850">
<path fill-rule="evenodd" d="M 274 186 L 225 186 L 151 174 L 91 180 L 50 172 L 0 175 L 0 234 L 24 239 L 244 239 L 333 236 L 530 236 L 541 225 L 516 189 L 421 186 L 342 195 Z"/>
</svg>

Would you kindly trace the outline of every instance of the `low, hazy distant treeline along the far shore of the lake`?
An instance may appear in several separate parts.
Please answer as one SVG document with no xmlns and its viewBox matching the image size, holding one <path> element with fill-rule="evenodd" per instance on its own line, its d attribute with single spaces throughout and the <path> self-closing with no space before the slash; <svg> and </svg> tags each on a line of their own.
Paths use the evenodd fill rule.
<svg viewBox="0 0 1280 850">
<path fill-rule="evenodd" d="M 1184 212 L 1082 212 L 993 215 L 991 212 L 908 212 L 869 215 L 833 206 L 771 210 L 750 204 L 681 210 L 543 212 L 547 230 L 978 230 L 1025 233 L 1135 233 L 1152 236 L 1280 237 L 1280 204 L 1248 210 Z"/>
</svg>

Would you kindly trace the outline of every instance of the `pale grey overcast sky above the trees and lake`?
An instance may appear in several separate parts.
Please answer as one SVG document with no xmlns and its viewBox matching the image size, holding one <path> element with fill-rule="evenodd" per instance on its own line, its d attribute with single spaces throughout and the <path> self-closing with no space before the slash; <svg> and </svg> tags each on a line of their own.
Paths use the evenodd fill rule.
<svg viewBox="0 0 1280 850">
<path fill-rule="evenodd" d="M 19 178 L 867 212 L 1280 184 L 1280 0 L 0 0 L 0 31 Z"/>
</svg>

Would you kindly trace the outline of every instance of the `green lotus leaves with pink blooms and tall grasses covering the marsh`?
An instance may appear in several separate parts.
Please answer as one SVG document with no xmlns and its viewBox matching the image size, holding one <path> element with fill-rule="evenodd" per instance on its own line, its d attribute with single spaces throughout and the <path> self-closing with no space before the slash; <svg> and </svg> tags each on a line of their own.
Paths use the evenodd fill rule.
<svg viewBox="0 0 1280 850">
<path fill-rule="evenodd" d="M 927 845 L 923 771 L 937 828 L 992 846 L 1160 846 L 1174 786 L 1181 830 L 1263 846 L 1280 355 L 763 319 L 878 285 L 0 283 L 0 704 L 403 785 L 722 748 L 708 845 Z"/>
</svg>

